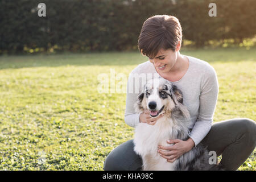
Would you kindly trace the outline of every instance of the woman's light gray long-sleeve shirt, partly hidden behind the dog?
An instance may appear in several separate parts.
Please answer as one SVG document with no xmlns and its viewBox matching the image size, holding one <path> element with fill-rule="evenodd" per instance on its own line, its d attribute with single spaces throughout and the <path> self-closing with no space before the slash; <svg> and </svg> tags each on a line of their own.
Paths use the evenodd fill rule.
<svg viewBox="0 0 256 182">
<path fill-rule="evenodd" d="M 193 122 L 193 129 L 189 137 L 197 145 L 204 139 L 212 127 L 213 114 L 218 97 L 218 79 L 214 68 L 209 63 L 195 57 L 187 57 L 189 59 L 187 72 L 179 81 L 172 83 L 183 93 L 183 104 L 187 106 Z M 140 114 L 135 113 L 134 104 L 143 86 L 142 81 L 136 81 L 136 77 L 138 75 L 150 74 L 158 75 L 154 65 L 150 61 L 146 61 L 139 64 L 129 75 L 125 122 L 131 127 L 135 127 L 139 123 Z M 138 92 L 136 92 L 136 89 Z"/>
</svg>

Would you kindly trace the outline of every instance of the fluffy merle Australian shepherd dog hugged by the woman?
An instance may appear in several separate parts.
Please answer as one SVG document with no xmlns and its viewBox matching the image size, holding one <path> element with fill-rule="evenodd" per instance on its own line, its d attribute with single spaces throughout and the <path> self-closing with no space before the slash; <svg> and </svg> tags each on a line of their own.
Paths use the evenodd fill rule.
<svg viewBox="0 0 256 182">
<path fill-rule="evenodd" d="M 207 147 L 199 143 L 173 163 L 157 152 L 158 146 L 171 146 L 168 139 L 187 140 L 192 121 L 183 105 L 183 95 L 177 86 L 162 77 L 148 80 L 135 103 L 137 113 L 150 111 L 151 117 L 160 117 L 155 125 L 139 123 L 135 127 L 134 151 L 142 157 L 143 171 L 223 170 L 221 165 L 209 164 Z"/>
</svg>

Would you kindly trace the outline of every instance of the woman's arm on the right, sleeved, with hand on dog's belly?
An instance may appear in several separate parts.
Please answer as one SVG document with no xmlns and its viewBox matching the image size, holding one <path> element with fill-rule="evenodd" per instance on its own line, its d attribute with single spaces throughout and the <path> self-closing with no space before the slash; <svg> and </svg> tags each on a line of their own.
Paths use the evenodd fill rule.
<svg viewBox="0 0 256 182">
<path fill-rule="evenodd" d="M 179 139 L 167 141 L 167 143 L 174 143 L 173 146 L 159 146 L 159 154 L 167 159 L 168 162 L 174 162 L 185 152 L 196 147 L 209 133 L 210 128 L 212 127 L 213 114 L 218 98 L 218 80 L 216 72 L 212 67 L 205 70 L 205 77 L 201 82 L 200 90 L 199 116 L 189 134 L 190 138 L 185 141 Z"/>
</svg>

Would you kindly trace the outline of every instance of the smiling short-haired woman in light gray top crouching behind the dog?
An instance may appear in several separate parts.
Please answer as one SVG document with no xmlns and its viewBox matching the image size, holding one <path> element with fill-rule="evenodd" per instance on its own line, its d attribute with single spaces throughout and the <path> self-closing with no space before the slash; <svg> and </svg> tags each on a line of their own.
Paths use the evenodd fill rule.
<svg viewBox="0 0 256 182">
<path fill-rule="evenodd" d="M 180 54 L 182 32 L 179 20 L 174 16 L 156 15 L 148 18 L 141 30 L 138 48 L 149 61 L 138 65 L 129 75 L 125 122 L 135 127 L 139 122 L 154 125 L 149 111 L 138 114 L 134 103 L 138 93 L 128 92 L 141 82 L 133 82 L 134 75 L 158 74 L 171 81 L 183 93 L 183 103 L 191 114 L 193 129 L 188 140 L 172 139 L 172 146 L 159 146 L 159 155 L 174 162 L 202 142 L 209 151 L 222 155 L 221 165 L 236 170 L 245 162 L 256 144 L 256 124 L 251 119 L 230 119 L 213 123 L 218 97 L 218 80 L 213 67 L 206 61 Z M 105 170 L 139 170 L 142 159 L 133 151 L 133 140 L 115 148 L 105 160 Z"/>
</svg>

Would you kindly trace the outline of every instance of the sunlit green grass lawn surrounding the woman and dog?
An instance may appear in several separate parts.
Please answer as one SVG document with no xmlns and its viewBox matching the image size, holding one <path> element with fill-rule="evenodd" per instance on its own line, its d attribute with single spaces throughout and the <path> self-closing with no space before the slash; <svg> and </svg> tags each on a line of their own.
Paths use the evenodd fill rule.
<svg viewBox="0 0 256 182">
<path fill-rule="evenodd" d="M 214 122 L 255 121 L 256 48 L 181 53 L 216 69 Z M 0 170 L 102 170 L 134 129 L 123 120 L 126 94 L 98 93 L 97 77 L 110 69 L 128 76 L 146 60 L 138 52 L 1 56 Z M 239 169 L 256 169 L 255 151 Z"/>
</svg>

